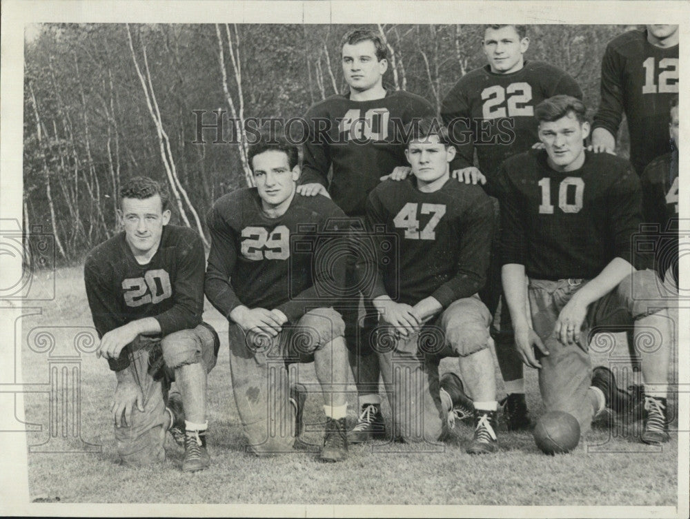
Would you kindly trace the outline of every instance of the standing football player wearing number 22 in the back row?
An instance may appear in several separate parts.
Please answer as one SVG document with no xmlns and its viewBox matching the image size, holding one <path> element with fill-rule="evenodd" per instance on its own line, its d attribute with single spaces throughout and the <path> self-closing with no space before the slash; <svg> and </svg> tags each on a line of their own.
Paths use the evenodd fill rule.
<svg viewBox="0 0 690 519">
<path fill-rule="evenodd" d="M 575 80 L 560 68 L 524 58 L 529 48 L 526 26 L 489 25 L 482 48 L 488 63 L 460 78 L 441 105 L 457 154 L 451 163 L 458 180 L 480 183 L 495 196 L 495 176 L 502 161 L 538 143 L 534 107 L 556 94 L 582 99 Z M 475 167 L 475 150 L 477 165 Z M 400 172 L 402 173 L 402 172 Z M 509 430 L 529 428 L 522 361 L 515 353 L 510 315 L 502 305 L 498 233 L 482 300 L 495 314 L 491 335 L 506 389 L 504 418 Z"/>
</svg>

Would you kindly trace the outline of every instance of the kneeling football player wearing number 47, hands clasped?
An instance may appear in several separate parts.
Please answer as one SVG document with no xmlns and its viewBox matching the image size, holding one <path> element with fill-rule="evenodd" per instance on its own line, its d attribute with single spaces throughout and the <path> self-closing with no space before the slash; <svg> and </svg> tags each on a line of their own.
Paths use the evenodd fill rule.
<svg viewBox="0 0 690 519">
<path fill-rule="evenodd" d="M 478 185 L 449 180 L 455 148 L 437 119 L 408 125 L 406 156 L 413 175 L 371 192 L 371 229 L 397 234 L 400 261 L 379 261 L 373 303 L 380 314 L 377 351 L 391 399 L 395 436 L 435 442 L 453 411 L 474 407 L 470 454 L 494 452 L 496 387 L 489 349 L 491 314 L 480 301 L 489 266 L 493 204 Z M 377 234 L 373 234 L 376 238 Z M 382 256 L 382 259 L 384 256 Z M 400 265 L 397 267 L 397 265 Z M 438 365 L 459 358 L 461 379 L 439 383 Z"/>
</svg>

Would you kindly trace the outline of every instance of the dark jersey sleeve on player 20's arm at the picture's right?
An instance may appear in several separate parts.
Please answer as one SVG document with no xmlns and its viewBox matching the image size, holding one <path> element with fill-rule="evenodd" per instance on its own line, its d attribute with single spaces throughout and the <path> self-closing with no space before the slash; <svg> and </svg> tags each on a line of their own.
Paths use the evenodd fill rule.
<svg viewBox="0 0 690 519">
<path fill-rule="evenodd" d="M 187 244 L 185 244 L 187 245 Z M 204 245 L 194 233 L 192 243 L 177 245 L 177 272 L 172 286 L 172 307 L 154 318 L 166 336 L 201 323 L 204 312 Z"/>
</svg>

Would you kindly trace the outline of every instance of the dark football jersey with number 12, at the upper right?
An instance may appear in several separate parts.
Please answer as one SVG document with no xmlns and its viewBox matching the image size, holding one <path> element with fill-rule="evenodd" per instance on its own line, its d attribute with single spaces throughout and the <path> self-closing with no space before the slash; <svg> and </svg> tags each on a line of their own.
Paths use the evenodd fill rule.
<svg viewBox="0 0 690 519">
<path fill-rule="evenodd" d="M 606 128 L 616 136 L 625 112 L 630 161 L 642 174 L 652 159 L 671 152 L 669 109 L 676 95 L 678 45 L 662 49 L 647 41 L 646 30 L 626 32 L 604 53 L 602 97 L 593 128 Z"/>
</svg>

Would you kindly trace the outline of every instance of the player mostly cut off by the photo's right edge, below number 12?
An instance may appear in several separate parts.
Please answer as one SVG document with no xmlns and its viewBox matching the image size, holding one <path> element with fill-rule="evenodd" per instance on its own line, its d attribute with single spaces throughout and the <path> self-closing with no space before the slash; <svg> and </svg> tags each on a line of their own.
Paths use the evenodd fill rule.
<svg viewBox="0 0 690 519">
<path fill-rule="evenodd" d="M 678 232 L 678 96 L 671 100 L 671 147 L 673 151 L 657 157 L 644 168 L 642 199 L 644 222 L 656 223 L 662 236 L 671 236 Z M 678 237 L 664 239 L 656 252 L 655 265 L 657 273 L 664 280 L 669 294 L 678 295 Z M 669 254 L 669 251 L 671 254 Z"/>
</svg>

